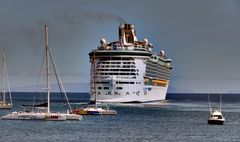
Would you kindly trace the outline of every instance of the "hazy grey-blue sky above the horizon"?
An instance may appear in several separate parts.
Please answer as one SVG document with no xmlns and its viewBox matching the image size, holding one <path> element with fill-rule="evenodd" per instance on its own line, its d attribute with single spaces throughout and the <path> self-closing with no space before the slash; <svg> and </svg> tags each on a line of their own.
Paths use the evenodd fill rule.
<svg viewBox="0 0 240 142">
<path fill-rule="evenodd" d="M 88 53 L 130 23 L 173 60 L 169 93 L 240 93 L 238 0 L 0 0 L 0 19 L 13 91 L 39 80 L 45 24 L 66 90 L 85 92 Z"/>
</svg>

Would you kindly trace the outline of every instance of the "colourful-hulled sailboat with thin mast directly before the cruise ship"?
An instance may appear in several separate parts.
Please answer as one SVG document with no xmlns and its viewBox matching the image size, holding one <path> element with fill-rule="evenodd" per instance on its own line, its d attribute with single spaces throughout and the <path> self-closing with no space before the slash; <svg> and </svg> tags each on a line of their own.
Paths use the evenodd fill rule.
<svg viewBox="0 0 240 142">
<path fill-rule="evenodd" d="M 81 107 L 81 108 L 75 108 L 72 113 L 78 114 L 78 115 L 116 115 L 117 111 L 114 109 L 110 109 L 108 105 L 106 108 L 99 107 L 97 105 L 97 94 L 96 94 L 96 62 L 95 62 L 95 53 L 94 58 L 92 60 L 93 62 L 93 87 L 95 88 L 94 91 L 92 91 L 92 95 L 94 95 L 94 100 L 90 102 L 90 105 L 87 105 L 87 107 Z"/>
</svg>

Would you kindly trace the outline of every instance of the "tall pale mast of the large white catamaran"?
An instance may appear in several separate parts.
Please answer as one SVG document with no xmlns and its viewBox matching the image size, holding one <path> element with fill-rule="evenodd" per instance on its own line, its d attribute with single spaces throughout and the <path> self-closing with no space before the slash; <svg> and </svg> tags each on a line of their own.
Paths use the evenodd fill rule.
<svg viewBox="0 0 240 142">
<path fill-rule="evenodd" d="M 47 97 L 48 108 L 47 112 L 50 113 L 50 69 L 49 69 L 49 52 L 48 52 L 48 26 L 45 25 L 45 54 L 46 54 L 46 73 L 47 73 Z"/>
</svg>

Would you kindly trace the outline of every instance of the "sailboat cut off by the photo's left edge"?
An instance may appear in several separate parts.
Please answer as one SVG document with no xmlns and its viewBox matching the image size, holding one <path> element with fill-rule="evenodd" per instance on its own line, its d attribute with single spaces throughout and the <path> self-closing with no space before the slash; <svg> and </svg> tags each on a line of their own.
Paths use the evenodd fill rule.
<svg viewBox="0 0 240 142">
<path fill-rule="evenodd" d="M 5 51 L 2 53 L 3 57 L 3 89 L 2 89 L 2 100 L 0 101 L 0 109 L 10 109 L 13 106 L 12 103 L 12 95 L 10 91 L 10 85 L 9 85 L 9 80 L 8 80 L 8 73 L 7 73 L 7 65 L 5 61 Z M 10 102 L 7 102 L 6 100 L 6 95 L 9 96 Z"/>
</svg>

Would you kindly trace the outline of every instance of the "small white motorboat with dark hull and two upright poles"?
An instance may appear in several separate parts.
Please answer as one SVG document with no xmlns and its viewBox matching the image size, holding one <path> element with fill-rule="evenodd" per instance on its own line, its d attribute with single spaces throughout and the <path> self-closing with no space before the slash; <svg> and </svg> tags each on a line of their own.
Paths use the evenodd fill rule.
<svg viewBox="0 0 240 142">
<path fill-rule="evenodd" d="M 208 101 L 209 101 L 209 108 L 210 108 L 210 115 L 208 118 L 208 124 L 218 124 L 222 125 L 225 122 L 225 118 L 223 117 L 221 105 L 222 105 L 222 95 L 220 95 L 220 107 L 213 110 L 210 102 L 210 97 L 208 95 Z"/>
</svg>

